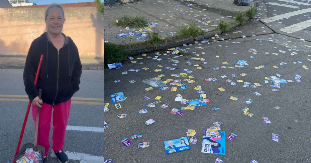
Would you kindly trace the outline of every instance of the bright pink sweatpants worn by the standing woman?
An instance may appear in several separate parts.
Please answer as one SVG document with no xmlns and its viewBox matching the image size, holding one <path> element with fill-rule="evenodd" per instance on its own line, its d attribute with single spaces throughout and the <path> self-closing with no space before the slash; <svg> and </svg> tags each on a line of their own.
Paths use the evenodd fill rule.
<svg viewBox="0 0 311 163">
<path fill-rule="evenodd" d="M 44 156 L 48 155 L 50 143 L 49 143 L 49 133 L 51 127 L 51 117 L 52 108 L 53 111 L 53 145 L 52 149 L 54 151 L 60 151 L 63 149 L 65 132 L 67 127 L 67 121 L 69 118 L 71 99 L 62 102 L 57 105 L 49 105 L 46 103 L 41 104 L 40 115 L 39 115 L 39 129 L 38 129 L 38 145 L 45 148 Z M 32 108 L 32 118 L 36 123 L 37 116 L 37 106 L 31 104 Z"/>
</svg>

